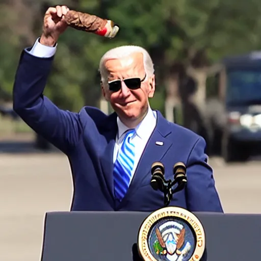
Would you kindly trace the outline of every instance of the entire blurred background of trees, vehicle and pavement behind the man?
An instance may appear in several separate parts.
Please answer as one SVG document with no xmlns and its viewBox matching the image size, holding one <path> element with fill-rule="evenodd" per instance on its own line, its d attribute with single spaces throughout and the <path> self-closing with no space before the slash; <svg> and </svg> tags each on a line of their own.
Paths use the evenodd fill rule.
<svg viewBox="0 0 261 261">
<path fill-rule="evenodd" d="M 156 75 L 151 107 L 204 137 L 226 213 L 261 213 L 259 0 L 0 0 L 0 260 L 39 260 L 45 212 L 70 207 L 66 157 L 12 110 L 20 53 L 56 5 L 111 19 L 120 31 L 107 39 L 69 28 L 44 94 L 61 109 L 111 113 L 99 59 L 119 45 L 145 47 Z"/>
</svg>

